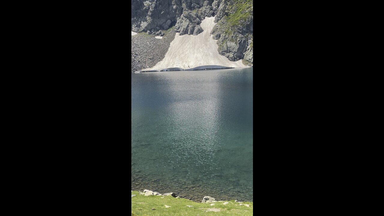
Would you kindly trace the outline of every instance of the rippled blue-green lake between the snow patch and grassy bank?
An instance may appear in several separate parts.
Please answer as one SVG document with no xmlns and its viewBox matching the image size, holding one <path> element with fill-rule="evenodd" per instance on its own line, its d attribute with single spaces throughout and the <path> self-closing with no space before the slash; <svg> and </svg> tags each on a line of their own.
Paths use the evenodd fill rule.
<svg viewBox="0 0 384 216">
<path fill-rule="evenodd" d="M 131 74 L 131 189 L 253 201 L 253 68 Z"/>
</svg>

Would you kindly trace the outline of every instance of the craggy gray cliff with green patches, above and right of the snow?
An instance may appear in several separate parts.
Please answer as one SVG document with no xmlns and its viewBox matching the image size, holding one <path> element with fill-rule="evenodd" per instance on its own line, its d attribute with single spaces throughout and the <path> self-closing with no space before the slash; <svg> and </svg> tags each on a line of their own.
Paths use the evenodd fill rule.
<svg viewBox="0 0 384 216">
<path fill-rule="evenodd" d="M 253 2 L 251 0 L 131 0 L 131 31 L 164 35 L 175 27 L 179 35 L 203 32 L 200 23 L 215 16 L 210 32 L 218 52 L 231 61 L 253 65 Z"/>
</svg>

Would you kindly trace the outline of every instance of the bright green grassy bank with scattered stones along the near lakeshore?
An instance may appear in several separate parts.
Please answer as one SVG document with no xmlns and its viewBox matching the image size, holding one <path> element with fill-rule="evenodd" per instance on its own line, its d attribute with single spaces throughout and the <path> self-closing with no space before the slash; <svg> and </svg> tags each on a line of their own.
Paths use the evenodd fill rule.
<svg viewBox="0 0 384 216">
<path fill-rule="evenodd" d="M 195 203 L 187 199 L 176 199 L 172 196 L 139 195 L 139 191 L 133 191 L 131 194 L 136 194 L 131 198 L 131 216 L 253 215 L 252 202 L 243 202 L 241 203 L 243 205 L 240 206 L 240 203 L 235 203 L 232 200 L 216 202 L 211 206 L 212 203 Z M 225 202 L 228 202 L 228 204 L 224 205 Z M 244 204 L 249 204 L 249 207 L 244 206 Z M 170 207 L 166 208 L 166 205 Z"/>
</svg>

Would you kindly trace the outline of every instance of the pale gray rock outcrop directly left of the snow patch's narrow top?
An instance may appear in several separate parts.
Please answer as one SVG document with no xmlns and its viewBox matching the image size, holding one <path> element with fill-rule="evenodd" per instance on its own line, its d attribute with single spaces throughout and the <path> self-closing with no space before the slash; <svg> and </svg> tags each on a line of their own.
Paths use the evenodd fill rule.
<svg viewBox="0 0 384 216">
<path fill-rule="evenodd" d="M 203 32 L 200 23 L 203 18 L 198 13 L 186 12 L 177 19 L 175 31 L 180 32 L 179 35 L 197 35 Z"/>
</svg>

